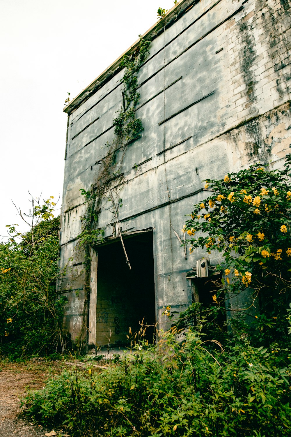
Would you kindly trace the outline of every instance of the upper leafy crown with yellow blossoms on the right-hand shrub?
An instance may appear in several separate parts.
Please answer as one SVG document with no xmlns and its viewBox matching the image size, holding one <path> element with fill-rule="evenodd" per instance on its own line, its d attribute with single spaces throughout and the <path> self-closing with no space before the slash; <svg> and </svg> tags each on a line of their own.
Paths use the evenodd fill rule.
<svg viewBox="0 0 291 437">
<path fill-rule="evenodd" d="M 182 229 L 191 237 L 190 252 L 197 247 L 223 252 L 226 276 L 233 271 L 245 286 L 252 283 L 253 271 L 278 271 L 289 279 L 290 162 L 289 155 L 284 170 L 253 165 L 223 180 L 207 179 L 205 188 L 214 194 L 194 206 Z"/>
</svg>

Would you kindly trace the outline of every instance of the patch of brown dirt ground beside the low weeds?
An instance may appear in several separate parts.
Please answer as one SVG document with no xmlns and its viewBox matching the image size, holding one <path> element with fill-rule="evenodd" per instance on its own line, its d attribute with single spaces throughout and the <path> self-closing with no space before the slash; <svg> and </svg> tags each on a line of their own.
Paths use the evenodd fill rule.
<svg viewBox="0 0 291 437">
<path fill-rule="evenodd" d="M 31 361 L 28 363 L 0 362 L 0 436 L 44 437 L 51 429 L 44 429 L 24 419 L 20 399 L 26 390 L 42 388 L 51 371 L 59 373 L 66 367 L 61 361 Z M 56 431 L 56 435 L 64 435 Z"/>
</svg>

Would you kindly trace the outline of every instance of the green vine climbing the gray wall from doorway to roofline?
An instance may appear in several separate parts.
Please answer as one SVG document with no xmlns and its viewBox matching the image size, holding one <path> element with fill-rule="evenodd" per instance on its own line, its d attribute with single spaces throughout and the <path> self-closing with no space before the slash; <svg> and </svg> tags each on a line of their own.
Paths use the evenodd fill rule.
<svg viewBox="0 0 291 437">
<path fill-rule="evenodd" d="M 97 242 L 102 241 L 104 235 L 104 229 L 99 227 L 101 204 L 108 197 L 108 200 L 112 203 L 113 214 L 115 214 L 116 222 L 119 226 L 117 215 L 120 208 L 120 199 L 117 186 L 120 186 L 123 180 L 123 175 L 120 173 L 123 157 L 128 144 L 132 140 L 137 139 L 143 131 L 142 121 L 136 117 L 135 112 L 135 107 L 140 101 L 140 94 L 137 90 L 137 73 L 147 53 L 149 53 L 148 48 L 151 41 L 143 39 L 141 35 L 139 37 L 140 41 L 135 52 L 131 55 L 124 55 L 121 61 L 121 67 L 124 68 L 124 74 L 121 79 L 121 83 L 123 83 L 123 105 L 113 119 L 114 139 L 106 144 L 106 156 L 99 162 L 99 170 L 90 190 L 80 189 L 81 194 L 85 198 L 86 211 L 81 218 L 82 231 L 79 235 L 76 250 L 77 256 L 81 255 L 85 265 L 84 316 L 86 316 L 90 295 L 91 248 Z M 119 160 L 117 160 L 116 156 L 118 151 L 122 152 Z M 84 329 L 85 324 L 83 324 L 79 335 L 80 348 L 84 338 Z"/>
</svg>

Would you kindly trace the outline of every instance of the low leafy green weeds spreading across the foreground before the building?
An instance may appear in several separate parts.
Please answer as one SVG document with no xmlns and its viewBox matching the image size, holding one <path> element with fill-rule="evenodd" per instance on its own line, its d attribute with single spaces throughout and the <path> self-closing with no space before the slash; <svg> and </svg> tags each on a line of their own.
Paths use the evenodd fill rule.
<svg viewBox="0 0 291 437">
<path fill-rule="evenodd" d="M 26 414 L 72 436 L 291 435 L 289 357 L 240 337 L 212 347 L 193 329 L 183 339 L 171 329 L 102 373 L 51 377 Z"/>
</svg>

